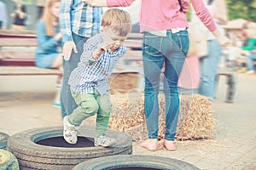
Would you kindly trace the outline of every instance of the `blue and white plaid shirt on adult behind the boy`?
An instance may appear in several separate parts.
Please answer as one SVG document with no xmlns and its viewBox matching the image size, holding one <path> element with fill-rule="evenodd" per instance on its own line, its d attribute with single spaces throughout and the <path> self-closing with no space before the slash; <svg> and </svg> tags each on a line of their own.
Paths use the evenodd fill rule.
<svg viewBox="0 0 256 170">
<path fill-rule="evenodd" d="M 72 31 L 92 37 L 100 31 L 102 7 L 90 7 L 82 0 L 61 0 L 60 24 L 63 42 L 73 41 Z"/>
</svg>

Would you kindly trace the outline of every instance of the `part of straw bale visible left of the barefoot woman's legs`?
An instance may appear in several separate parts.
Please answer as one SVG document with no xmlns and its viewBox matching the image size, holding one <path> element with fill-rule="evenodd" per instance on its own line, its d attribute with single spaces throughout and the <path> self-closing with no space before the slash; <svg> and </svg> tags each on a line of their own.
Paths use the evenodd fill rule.
<svg viewBox="0 0 256 170">
<path fill-rule="evenodd" d="M 133 91 L 129 94 L 111 95 L 112 116 L 108 127 L 126 133 L 133 141 L 147 138 L 144 106 L 141 94 Z"/>
</svg>

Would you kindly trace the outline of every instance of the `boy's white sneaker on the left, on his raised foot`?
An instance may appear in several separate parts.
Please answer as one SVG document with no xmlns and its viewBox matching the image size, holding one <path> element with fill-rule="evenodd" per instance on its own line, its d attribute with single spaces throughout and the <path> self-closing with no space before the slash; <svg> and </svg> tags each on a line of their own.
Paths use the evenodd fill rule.
<svg viewBox="0 0 256 170">
<path fill-rule="evenodd" d="M 68 116 L 63 118 L 63 137 L 69 144 L 76 144 L 78 141 L 78 126 L 68 122 Z"/>
</svg>

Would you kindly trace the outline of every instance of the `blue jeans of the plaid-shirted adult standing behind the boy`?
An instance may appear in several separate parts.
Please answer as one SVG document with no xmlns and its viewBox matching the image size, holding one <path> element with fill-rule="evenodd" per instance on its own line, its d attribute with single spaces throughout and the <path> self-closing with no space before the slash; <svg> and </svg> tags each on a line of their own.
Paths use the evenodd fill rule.
<svg viewBox="0 0 256 170">
<path fill-rule="evenodd" d="M 80 56 L 84 50 L 84 42 L 87 41 L 87 37 L 80 37 L 73 33 L 73 41 L 76 44 L 78 49 L 78 53 L 74 52 L 71 54 L 71 58 L 66 61 L 63 60 L 63 76 L 62 76 L 62 86 L 61 86 L 61 116 L 70 115 L 73 110 L 75 110 L 78 105 L 75 103 L 72 94 L 70 92 L 70 88 L 68 85 L 68 79 L 74 68 L 77 67 Z"/>
</svg>

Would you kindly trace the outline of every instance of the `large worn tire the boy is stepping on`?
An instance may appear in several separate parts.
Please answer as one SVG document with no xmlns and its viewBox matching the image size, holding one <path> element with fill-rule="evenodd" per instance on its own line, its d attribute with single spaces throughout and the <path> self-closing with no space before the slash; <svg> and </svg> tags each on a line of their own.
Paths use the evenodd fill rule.
<svg viewBox="0 0 256 170">
<path fill-rule="evenodd" d="M 109 130 L 108 136 L 116 138 L 118 144 L 103 148 L 93 145 L 92 127 L 80 127 L 79 133 L 85 134 L 84 139 L 91 141 L 91 145 L 81 146 L 82 137 L 79 135 L 78 144 L 67 144 L 62 137 L 62 127 L 46 127 L 26 130 L 16 133 L 8 140 L 7 150 L 18 159 L 20 169 L 72 169 L 80 162 L 91 158 L 113 155 L 128 155 L 132 153 L 131 138 L 125 133 Z M 42 145 L 44 140 L 58 139 L 49 145 Z M 60 142 L 61 139 L 61 142 Z M 66 145 L 58 145 L 58 144 Z M 85 142 L 83 143 L 85 144 Z M 82 144 L 82 145 L 83 145 Z"/>
</svg>

